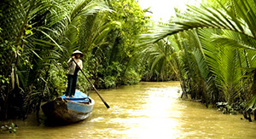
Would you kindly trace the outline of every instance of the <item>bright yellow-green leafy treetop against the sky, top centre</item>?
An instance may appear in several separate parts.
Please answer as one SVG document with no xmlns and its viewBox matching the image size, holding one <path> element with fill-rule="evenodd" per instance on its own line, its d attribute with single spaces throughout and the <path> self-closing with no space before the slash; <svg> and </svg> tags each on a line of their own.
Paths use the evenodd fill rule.
<svg viewBox="0 0 256 139">
<path fill-rule="evenodd" d="M 137 35 L 141 34 L 148 23 L 148 17 L 145 17 L 143 9 L 140 8 L 135 0 L 111 1 L 111 7 L 115 11 L 111 14 L 110 20 L 119 20 L 122 27 L 119 28 L 125 55 L 131 57 L 131 50 L 137 43 Z"/>
</svg>

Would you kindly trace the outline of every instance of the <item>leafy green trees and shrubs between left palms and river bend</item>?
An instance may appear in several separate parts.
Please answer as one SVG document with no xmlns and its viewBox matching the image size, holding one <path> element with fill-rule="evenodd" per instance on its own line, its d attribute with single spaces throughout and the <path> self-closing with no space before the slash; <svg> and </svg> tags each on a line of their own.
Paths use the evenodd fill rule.
<svg viewBox="0 0 256 139">
<path fill-rule="evenodd" d="M 137 35 L 144 32 L 146 27 L 143 25 L 148 22 L 143 9 L 136 1 L 125 0 L 110 1 L 109 6 L 113 12 L 89 17 L 90 23 L 84 26 L 86 32 L 83 32 L 86 38 L 79 39 L 86 40 L 85 45 L 88 47 L 85 48 L 88 49 L 84 51 L 90 54 L 87 55 L 84 66 L 98 88 L 138 83 L 140 78 L 137 77 L 140 75 L 133 72 L 143 68 L 137 65 L 137 61 L 132 61 L 134 51 L 137 50 Z M 97 23 L 93 24 L 94 22 Z M 90 26 L 100 29 L 97 38 L 93 37 L 97 32 L 87 29 Z M 137 67 L 133 67 L 134 65 Z M 135 78 L 130 78 L 131 73 Z"/>
</svg>

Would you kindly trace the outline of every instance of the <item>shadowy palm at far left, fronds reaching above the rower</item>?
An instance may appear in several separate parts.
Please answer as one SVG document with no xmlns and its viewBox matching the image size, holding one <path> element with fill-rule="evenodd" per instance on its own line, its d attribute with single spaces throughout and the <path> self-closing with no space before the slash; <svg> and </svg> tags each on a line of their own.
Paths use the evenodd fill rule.
<svg viewBox="0 0 256 139">
<path fill-rule="evenodd" d="M 1 79 L 9 81 L 12 77 L 13 84 L 1 83 L 0 107 L 6 117 L 9 100 L 17 99 L 13 95 L 9 98 L 10 92 L 24 97 L 20 102 L 24 105 L 18 105 L 26 112 L 39 107 L 43 96 L 57 93 L 55 83 L 49 81 L 49 72 L 51 66 L 72 51 L 66 47 L 67 34 L 73 32 L 79 18 L 109 9 L 102 1 L 12 0 L 1 2 L 0 10 L 4 47 L 1 55 L 6 60 L 0 69 Z"/>
</svg>

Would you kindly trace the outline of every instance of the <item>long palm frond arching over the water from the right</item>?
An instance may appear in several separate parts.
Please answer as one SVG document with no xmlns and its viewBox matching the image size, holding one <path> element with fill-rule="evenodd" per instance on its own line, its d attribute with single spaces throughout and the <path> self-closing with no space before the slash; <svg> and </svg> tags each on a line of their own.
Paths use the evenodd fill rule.
<svg viewBox="0 0 256 139">
<path fill-rule="evenodd" d="M 143 43 L 154 43 L 161 38 L 166 38 L 168 35 L 172 35 L 177 32 L 188 31 L 199 28 L 218 28 L 240 32 L 247 35 L 249 38 L 256 38 L 253 20 L 253 14 L 255 9 L 249 5 L 249 0 L 236 1 L 235 5 L 239 14 L 236 16 L 234 10 L 225 9 L 224 5 L 219 3 L 219 9 L 212 5 L 201 4 L 201 7 L 189 6 L 186 14 L 178 14 L 177 18 L 172 19 L 172 23 L 168 26 L 158 26 L 155 28 L 154 33 L 143 34 L 141 38 L 144 40 Z M 250 18 L 250 20 L 248 19 Z"/>
</svg>

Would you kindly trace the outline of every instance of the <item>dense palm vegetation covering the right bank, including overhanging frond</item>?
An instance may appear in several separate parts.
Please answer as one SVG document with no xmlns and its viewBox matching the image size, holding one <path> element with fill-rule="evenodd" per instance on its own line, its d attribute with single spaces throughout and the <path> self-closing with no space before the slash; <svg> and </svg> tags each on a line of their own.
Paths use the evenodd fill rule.
<svg viewBox="0 0 256 139">
<path fill-rule="evenodd" d="M 255 111 L 256 3 L 207 1 L 143 35 L 143 43 L 166 38 L 183 96 L 224 107 L 224 113 Z M 255 114 L 255 113 L 254 113 Z M 255 119 L 255 116 L 254 116 Z M 249 118 L 250 120 L 250 118 Z"/>
</svg>

